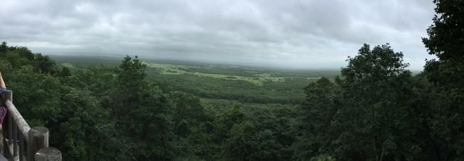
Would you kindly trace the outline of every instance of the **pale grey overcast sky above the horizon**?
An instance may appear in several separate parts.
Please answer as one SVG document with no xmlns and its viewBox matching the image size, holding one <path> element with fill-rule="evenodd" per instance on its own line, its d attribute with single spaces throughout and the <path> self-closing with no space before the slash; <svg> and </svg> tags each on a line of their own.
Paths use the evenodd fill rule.
<svg viewBox="0 0 464 161">
<path fill-rule="evenodd" d="M 0 2 L 0 41 L 37 53 L 129 54 L 298 68 L 339 68 L 363 43 L 390 43 L 412 69 L 428 0 Z"/>
</svg>

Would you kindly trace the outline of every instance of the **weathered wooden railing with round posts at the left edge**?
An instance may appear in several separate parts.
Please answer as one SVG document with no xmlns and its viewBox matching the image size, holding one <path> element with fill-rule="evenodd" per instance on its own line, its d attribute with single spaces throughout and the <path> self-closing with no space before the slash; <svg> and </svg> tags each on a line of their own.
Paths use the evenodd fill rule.
<svg viewBox="0 0 464 161">
<path fill-rule="evenodd" d="M 61 161 L 60 150 L 49 147 L 49 129 L 29 127 L 13 104 L 11 90 L 1 93 L 1 105 L 8 109 L 6 118 L 0 125 L 2 155 L 14 161 Z"/>
</svg>

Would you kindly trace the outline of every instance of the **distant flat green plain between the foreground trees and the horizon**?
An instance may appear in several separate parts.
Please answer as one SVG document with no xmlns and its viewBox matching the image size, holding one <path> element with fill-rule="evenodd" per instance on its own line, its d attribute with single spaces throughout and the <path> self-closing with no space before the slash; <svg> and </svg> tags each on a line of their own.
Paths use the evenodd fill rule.
<svg viewBox="0 0 464 161">
<path fill-rule="evenodd" d="M 60 66 L 86 68 L 91 64 L 118 66 L 122 57 L 51 55 Z M 148 79 L 166 90 L 181 90 L 216 108 L 291 107 L 304 100 L 303 88 L 321 77 L 339 75 L 339 69 L 287 69 L 229 64 L 143 59 Z"/>
</svg>

